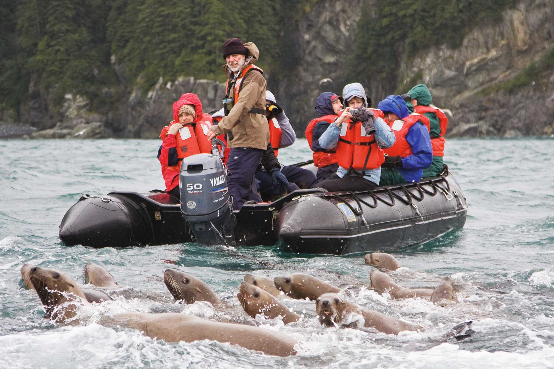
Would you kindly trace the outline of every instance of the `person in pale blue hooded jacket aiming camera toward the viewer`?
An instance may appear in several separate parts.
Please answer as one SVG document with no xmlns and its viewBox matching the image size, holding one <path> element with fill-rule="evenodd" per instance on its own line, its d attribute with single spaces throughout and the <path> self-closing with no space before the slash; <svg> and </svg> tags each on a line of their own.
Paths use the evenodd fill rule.
<svg viewBox="0 0 554 369">
<path fill-rule="evenodd" d="M 366 191 L 375 189 L 381 177 L 384 148 L 396 137 L 378 111 L 367 107 L 366 91 L 359 83 L 342 90 L 346 108 L 319 138 L 324 149 L 335 149 L 337 173 L 317 184 L 327 191 Z M 377 116 L 376 116 L 377 114 Z"/>
</svg>

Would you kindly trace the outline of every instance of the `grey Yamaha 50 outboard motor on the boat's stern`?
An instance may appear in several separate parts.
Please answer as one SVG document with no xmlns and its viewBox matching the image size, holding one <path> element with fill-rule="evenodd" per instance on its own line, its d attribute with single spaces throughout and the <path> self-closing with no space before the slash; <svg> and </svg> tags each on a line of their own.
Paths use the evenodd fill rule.
<svg viewBox="0 0 554 369">
<path fill-rule="evenodd" d="M 214 141 L 224 147 L 223 142 Z M 214 141 L 213 154 L 183 159 L 179 172 L 181 213 L 198 243 L 234 246 L 237 220 L 227 188 L 227 171 Z"/>
</svg>

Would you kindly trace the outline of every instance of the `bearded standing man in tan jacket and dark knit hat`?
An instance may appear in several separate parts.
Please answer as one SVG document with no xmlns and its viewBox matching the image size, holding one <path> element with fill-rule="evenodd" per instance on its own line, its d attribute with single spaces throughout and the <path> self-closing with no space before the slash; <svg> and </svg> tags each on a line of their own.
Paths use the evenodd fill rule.
<svg viewBox="0 0 554 369">
<path fill-rule="evenodd" d="M 227 92 L 223 99 L 224 117 L 212 126 L 209 139 L 227 133 L 229 147 L 229 193 L 233 210 L 244 202 L 261 202 L 256 191 L 254 173 L 261 155 L 268 147 L 269 127 L 265 118 L 265 86 L 263 70 L 254 65 L 260 52 L 251 42 L 232 38 L 223 44 L 222 69 L 227 75 Z"/>
</svg>

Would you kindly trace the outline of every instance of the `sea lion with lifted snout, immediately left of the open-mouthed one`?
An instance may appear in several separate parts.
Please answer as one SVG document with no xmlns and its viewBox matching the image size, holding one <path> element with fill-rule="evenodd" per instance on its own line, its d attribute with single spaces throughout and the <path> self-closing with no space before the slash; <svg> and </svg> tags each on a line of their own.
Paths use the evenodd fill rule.
<svg viewBox="0 0 554 369">
<path fill-rule="evenodd" d="M 283 323 L 285 324 L 300 320 L 300 315 L 290 311 L 289 308 L 281 304 L 273 295 L 253 284 L 247 282 L 241 283 L 237 298 L 244 311 L 252 316 L 252 318 L 255 318 L 257 314 L 261 314 L 269 319 L 282 316 Z"/>
</svg>

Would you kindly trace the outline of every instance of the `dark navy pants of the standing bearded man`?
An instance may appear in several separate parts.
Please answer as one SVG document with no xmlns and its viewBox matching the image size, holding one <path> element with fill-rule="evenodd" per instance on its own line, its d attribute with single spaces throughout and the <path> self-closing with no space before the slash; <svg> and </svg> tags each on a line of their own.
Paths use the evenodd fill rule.
<svg viewBox="0 0 554 369">
<path fill-rule="evenodd" d="M 233 210 L 240 210 L 244 202 L 254 200 L 261 202 L 256 191 L 254 173 L 261 162 L 261 154 L 265 150 L 251 147 L 232 148 L 227 160 L 230 175 L 227 180 L 229 194 L 233 196 Z"/>
</svg>

